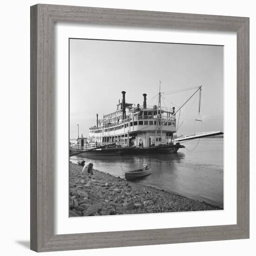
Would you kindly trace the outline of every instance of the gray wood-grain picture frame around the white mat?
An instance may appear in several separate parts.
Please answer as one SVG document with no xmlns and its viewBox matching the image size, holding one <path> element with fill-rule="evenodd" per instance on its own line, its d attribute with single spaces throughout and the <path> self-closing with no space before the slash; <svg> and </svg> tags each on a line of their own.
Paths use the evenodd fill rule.
<svg viewBox="0 0 256 256">
<path fill-rule="evenodd" d="M 54 22 L 237 33 L 236 224 L 54 235 Z M 46 252 L 244 238 L 249 238 L 249 18 L 45 4 L 32 6 L 31 249 Z"/>
</svg>

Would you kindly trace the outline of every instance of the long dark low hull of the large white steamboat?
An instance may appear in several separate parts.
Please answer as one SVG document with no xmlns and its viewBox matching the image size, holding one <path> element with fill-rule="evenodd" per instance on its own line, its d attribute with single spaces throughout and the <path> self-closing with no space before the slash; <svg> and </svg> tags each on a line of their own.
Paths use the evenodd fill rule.
<svg viewBox="0 0 256 256">
<path fill-rule="evenodd" d="M 177 153 L 179 148 L 185 148 L 183 145 L 162 145 L 156 147 L 148 148 L 135 148 L 135 147 L 126 147 L 126 148 L 95 148 L 94 150 L 88 151 L 78 151 L 70 149 L 69 154 L 79 155 L 144 155 L 144 154 L 172 154 Z"/>
</svg>

